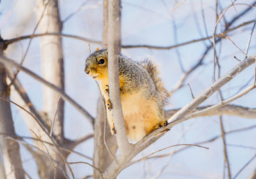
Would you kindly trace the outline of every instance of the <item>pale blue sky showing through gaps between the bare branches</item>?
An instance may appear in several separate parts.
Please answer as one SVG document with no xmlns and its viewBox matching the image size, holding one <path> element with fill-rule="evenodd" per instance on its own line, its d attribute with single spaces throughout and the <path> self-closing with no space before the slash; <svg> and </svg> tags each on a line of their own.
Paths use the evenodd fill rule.
<svg viewBox="0 0 256 179">
<path fill-rule="evenodd" d="M 221 8 L 225 9 L 230 5 L 230 1 L 220 1 Z M 227 10 L 225 18 L 227 21 L 232 19 L 234 15 L 241 12 L 248 6 L 242 3 L 251 3 L 252 1 L 237 1 L 241 5 L 236 5 L 236 9 L 231 7 Z M 84 1 L 60 1 L 61 19 L 65 19 L 70 13 Z M 205 12 L 205 22 L 207 25 L 208 34 L 212 35 L 215 25 L 215 1 L 203 1 Z M 196 38 L 201 38 L 205 35 L 204 23 L 202 20 L 201 3 L 199 0 L 185 1 L 179 8 L 175 8 L 175 1 L 122 1 L 122 44 L 148 44 L 148 45 L 174 45 L 173 37 L 173 19 L 177 26 L 178 42 L 187 42 Z M 35 19 L 35 1 L 2 1 L 0 6 L 2 12 L 0 16 L 1 35 L 3 38 L 13 38 L 15 36 L 29 35 L 33 31 L 36 24 Z M 199 24 L 195 22 L 195 15 L 198 18 Z M 233 26 L 255 19 L 255 10 L 252 10 L 248 15 L 238 20 Z M 221 21 L 221 24 L 223 22 Z M 198 29 L 201 30 L 198 31 Z M 252 24 L 237 29 L 234 33 L 230 33 L 230 38 L 241 48 L 245 49 L 250 35 Z M 217 33 L 222 32 L 223 27 L 218 27 Z M 95 40 L 102 38 L 102 1 L 87 1 L 83 10 L 76 13 L 72 18 L 63 24 L 63 33 L 70 35 L 79 35 Z M 255 39 L 252 37 L 251 48 L 249 54 L 255 53 Z M 28 56 L 24 65 L 29 69 L 41 75 L 40 70 L 40 39 L 35 38 L 31 44 Z M 28 40 L 20 43 L 15 43 L 6 51 L 6 55 L 17 61 L 20 61 L 22 49 L 26 49 Z M 208 41 L 205 41 L 209 45 Z M 92 49 L 96 49 L 98 45 L 91 44 Z M 220 56 L 221 74 L 228 72 L 233 66 L 239 62 L 233 56 L 243 59 L 244 55 L 236 48 L 229 40 L 223 40 L 221 45 L 216 45 L 217 53 Z M 221 51 L 219 51 L 221 49 Z M 65 55 L 65 88 L 70 97 L 74 98 L 79 104 L 95 116 L 97 98 L 99 97 L 97 85 L 90 77 L 84 74 L 84 60 L 88 56 L 88 43 L 74 40 L 71 38 L 63 38 L 63 50 Z M 179 49 L 180 58 L 185 70 L 189 70 L 198 58 L 205 51 L 203 42 L 192 43 L 191 45 L 182 46 Z M 180 79 L 182 71 L 180 70 L 179 61 L 175 49 L 171 50 L 152 50 L 152 49 L 123 49 L 122 54 L 134 60 L 142 59 L 147 56 L 152 56 L 161 71 L 166 88 L 173 89 L 175 83 Z M 194 95 L 200 94 L 207 86 L 212 83 L 212 51 L 205 58 L 204 66 L 198 68 L 186 81 L 189 83 Z M 223 86 L 223 95 L 225 98 L 234 95 L 236 91 L 243 86 L 253 75 L 254 67 L 250 66 L 244 72 L 237 75 L 236 79 L 228 82 Z M 38 109 L 42 109 L 42 84 L 36 82 L 28 75 L 20 72 L 19 79 L 22 81 L 25 89 L 29 93 L 32 101 Z M 255 90 L 248 95 L 236 100 L 233 104 L 243 105 L 246 107 L 255 107 L 256 98 Z M 166 109 L 183 107 L 191 101 L 191 93 L 188 86 L 173 93 L 170 100 L 171 105 Z M 220 102 L 218 94 L 212 95 L 202 105 L 216 104 Z M 15 130 L 17 134 L 29 136 L 29 129 L 24 124 L 19 111 L 16 107 L 12 107 L 13 119 L 15 121 Z M 255 125 L 255 120 L 248 120 L 234 116 L 223 116 L 225 129 L 234 130 L 236 128 Z M 76 139 L 93 132 L 90 124 L 84 117 L 79 114 L 70 104 L 65 104 L 65 135 L 70 139 Z M 172 128 L 168 134 L 152 144 L 147 150 L 141 152 L 136 157 L 139 159 L 143 155 L 154 152 L 160 148 L 178 143 L 196 143 L 204 141 L 213 136 L 221 134 L 218 116 L 207 118 L 196 118 L 188 120 L 180 125 Z M 256 131 L 248 130 L 237 134 L 228 134 L 228 144 L 240 144 L 244 146 L 256 146 L 255 138 Z M 125 169 L 120 173 L 118 178 L 154 178 L 157 173 L 168 164 L 163 174 L 158 178 L 221 178 L 223 175 L 223 145 L 221 139 L 214 143 L 205 144 L 209 150 L 202 148 L 190 148 L 181 153 L 168 157 L 148 160 L 140 162 Z M 93 140 L 79 145 L 77 151 L 86 155 L 93 155 Z M 168 153 L 175 150 L 170 148 L 161 153 Z M 31 158 L 24 148 L 21 150 L 22 159 L 28 160 Z M 237 171 L 255 154 L 255 150 L 228 146 L 228 154 L 234 176 Z M 82 160 L 76 155 L 70 155 L 70 161 Z M 86 160 L 84 160 L 86 161 Z M 31 168 L 34 164 L 33 160 L 28 160 L 24 163 L 25 169 L 33 178 L 36 175 L 36 169 Z M 33 165 L 35 166 L 35 165 Z M 92 174 L 92 169 L 88 166 L 77 165 L 72 166 L 77 177 Z M 246 178 L 256 167 L 256 161 L 253 161 L 237 178 Z M 146 174 L 145 174 L 146 173 Z"/>
</svg>

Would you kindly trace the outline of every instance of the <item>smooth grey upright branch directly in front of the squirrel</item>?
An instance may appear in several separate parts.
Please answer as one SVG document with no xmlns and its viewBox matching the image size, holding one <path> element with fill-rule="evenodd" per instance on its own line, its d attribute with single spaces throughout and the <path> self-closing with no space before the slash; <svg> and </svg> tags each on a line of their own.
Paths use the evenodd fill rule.
<svg viewBox="0 0 256 179">
<path fill-rule="evenodd" d="M 118 72 L 118 46 L 120 42 L 120 29 L 118 24 L 120 1 L 109 0 L 108 10 L 108 76 L 109 76 L 109 97 L 113 104 L 113 119 L 116 130 L 116 141 L 120 153 L 128 155 L 131 151 L 124 124 L 122 104 L 120 102 L 119 72 Z M 117 34 L 116 34 L 117 33 Z"/>
</svg>

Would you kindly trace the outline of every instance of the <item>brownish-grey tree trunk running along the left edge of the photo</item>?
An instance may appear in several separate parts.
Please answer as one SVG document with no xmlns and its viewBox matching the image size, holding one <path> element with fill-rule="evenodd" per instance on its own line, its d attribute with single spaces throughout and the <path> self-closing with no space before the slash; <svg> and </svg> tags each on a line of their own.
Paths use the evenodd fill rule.
<svg viewBox="0 0 256 179">
<path fill-rule="evenodd" d="M 0 52 L 3 54 L 3 51 Z M 10 97 L 10 90 L 6 84 L 6 69 L 0 63 L 0 94 L 4 98 Z M 0 100 L 0 132 L 15 137 L 12 111 L 10 103 Z M 24 170 L 20 159 L 19 144 L 3 135 L 0 136 L 0 146 L 4 160 L 6 178 L 24 178 Z"/>
</svg>

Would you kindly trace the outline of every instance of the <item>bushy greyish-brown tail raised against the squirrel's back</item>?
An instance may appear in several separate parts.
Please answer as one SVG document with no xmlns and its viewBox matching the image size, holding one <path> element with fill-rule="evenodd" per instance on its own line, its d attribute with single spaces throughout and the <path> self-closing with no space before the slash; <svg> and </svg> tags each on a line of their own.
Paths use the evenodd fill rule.
<svg viewBox="0 0 256 179">
<path fill-rule="evenodd" d="M 139 65 L 143 66 L 150 77 L 152 78 L 157 92 L 160 94 L 163 105 L 168 105 L 168 99 L 171 96 L 171 93 L 164 88 L 164 84 L 162 79 L 159 77 L 159 71 L 157 70 L 157 66 L 150 59 L 144 59 L 143 61 L 138 62 Z"/>
</svg>

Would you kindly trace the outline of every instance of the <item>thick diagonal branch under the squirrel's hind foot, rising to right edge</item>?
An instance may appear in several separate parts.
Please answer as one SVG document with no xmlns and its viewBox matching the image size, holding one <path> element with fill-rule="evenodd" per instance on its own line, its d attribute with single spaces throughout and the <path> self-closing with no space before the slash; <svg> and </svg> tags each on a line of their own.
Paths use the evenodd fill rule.
<svg viewBox="0 0 256 179">
<path fill-rule="evenodd" d="M 125 158 L 120 158 L 118 155 L 118 162 L 114 160 L 113 163 L 108 167 L 108 169 L 103 173 L 103 178 L 115 178 L 122 169 L 131 161 L 133 157 L 135 157 L 142 150 L 147 148 L 150 144 L 154 143 L 157 139 L 162 137 L 166 130 L 172 128 L 174 125 L 177 125 L 183 121 L 188 119 L 184 118 L 186 114 L 191 113 L 198 105 L 204 102 L 207 98 L 209 98 L 215 91 L 221 88 L 228 81 L 233 79 L 237 74 L 244 70 L 244 68 L 252 65 L 255 62 L 255 57 L 246 58 L 239 65 L 235 66 L 228 72 L 226 75 L 223 75 L 220 79 L 215 81 L 209 88 L 205 89 L 200 95 L 194 98 L 189 104 L 185 105 L 182 109 L 180 109 L 177 113 L 175 113 L 169 120 L 168 125 L 165 127 L 157 128 L 147 136 L 143 137 L 138 143 L 134 145 L 134 149 L 131 154 Z"/>
</svg>

